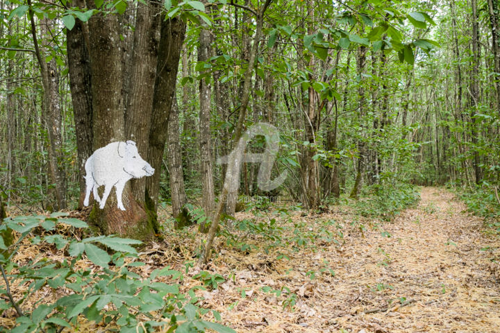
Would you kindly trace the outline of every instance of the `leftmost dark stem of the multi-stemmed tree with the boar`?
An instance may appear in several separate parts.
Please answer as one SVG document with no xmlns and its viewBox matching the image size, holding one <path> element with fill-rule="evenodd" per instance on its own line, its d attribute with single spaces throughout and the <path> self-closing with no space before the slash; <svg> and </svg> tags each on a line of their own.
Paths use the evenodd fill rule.
<svg viewBox="0 0 500 333">
<path fill-rule="evenodd" d="M 67 58 L 76 131 L 76 151 L 80 169 L 78 209 L 81 209 L 85 198 L 85 178 L 83 177 L 85 176 L 85 161 L 92 155 L 93 126 L 88 29 L 79 19 L 76 19 L 72 30 L 67 30 Z"/>
</svg>

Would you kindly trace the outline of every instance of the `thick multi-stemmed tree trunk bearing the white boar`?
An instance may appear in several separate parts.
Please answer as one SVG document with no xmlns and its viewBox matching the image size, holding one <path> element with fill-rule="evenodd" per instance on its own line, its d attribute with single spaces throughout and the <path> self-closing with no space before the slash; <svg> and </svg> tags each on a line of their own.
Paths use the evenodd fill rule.
<svg viewBox="0 0 500 333">
<path fill-rule="evenodd" d="M 94 2 L 89 5 L 90 8 L 96 8 Z M 89 105 L 86 105 L 85 111 L 76 113 L 75 117 L 81 119 L 91 113 L 92 132 L 90 128 L 83 128 L 84 133 L 77 135 L 92 133 L 93 150 L 110 142 L 133 139 L 140 155 L 147 157 L 151 166 L 157 170 L 156 178 L 151 180 L 149 186 L 145 180 L 135 180 L 131 185 L 126 185 L 122 196 L 125 211 L 117 207 L 113 195 L 109 197 L 103 210 L 94 205 L 89 217 L 90 222 L 99 226 L 105 233 L 149 239 L 158 229 L 158 173 L 161 170 L 167 135 L 166 124 L 175 89 L 172 76 L 176 76 L 180 56 L 178 51 L 169 52 L 169 48 L 178 46 L 173 50 L 180 49 L 184 26 L 178 23 L 178 19 L 163 20 L 160 31 L 158 4 L 140 3 L 133 36 L 133 67 L 128 78 L 122 71 L 118 16 L 99 13 L 88 22 L 90 80 L 82 82 L 78 81 L 80 77 L 74 78 L 76 85 L 78 82 L 86 85 L 90 81 L 91 89 L 87 93 L 91 96 L 87 96 L 86 100 L 92 101 L 92 112 L 88 108 Z M 85 42 L 85 33 L 72 37 L 82 38 L 82 44 Z M 76 56 L 85 52 L 84 49 L 80 51 L 83 53 L 76 53 Z M 74 66 L 76 62 L 70 62 L 71 64 Z M 69 72 L 78 73 L 74 68 Z M 130 82 L 125 85 L 126 80 Z M 123 87 L 128 87 L 130 93 L 123 92 Z M 129 95 L 128 105 L 125 105 L 124 93 Z"/>
</svg>

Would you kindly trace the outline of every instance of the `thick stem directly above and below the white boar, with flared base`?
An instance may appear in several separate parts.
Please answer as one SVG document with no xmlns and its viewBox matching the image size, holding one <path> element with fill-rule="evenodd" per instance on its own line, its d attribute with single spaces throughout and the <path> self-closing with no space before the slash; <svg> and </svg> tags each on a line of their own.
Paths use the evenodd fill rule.
<svg viewBox="0 0 500 333">
<path fill-rule="evenodd" d="M 89 3 L 94 8 L 93 1 Z M 94 15 L 88 22 L 90 74 L 92 76 L 93 148 L 125 140 L 124 101 L 122 96 L 122 53 L 119 49 L 117 15 Z M 89 216 L 91 225 L 105 234 L 119 234 L 136 239 L 151 239 L 154 221 L 133 197 L 130 182 L 122 194 L 126 210 L 117 207 L 113 190 L 101 210 L 94 205 Z"/>
</svg>

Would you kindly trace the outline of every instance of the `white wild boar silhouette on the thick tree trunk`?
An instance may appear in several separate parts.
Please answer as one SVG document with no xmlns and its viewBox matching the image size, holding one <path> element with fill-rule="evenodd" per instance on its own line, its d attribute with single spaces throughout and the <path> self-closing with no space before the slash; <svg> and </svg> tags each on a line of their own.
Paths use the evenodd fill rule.
<svg viewBox="0 0 500 333">
<path fill-rule="evenodd" d="M 103 148 L 97 149 L 85 162 L 86 191 L 83 205 L 89 205 L 90 192 L 101 209 L 113 186 L 116 189 L 118 208 L 125 210 L 122 203 L 122 193 L 126 182 L 132 178 L 153 176 L 154 169 L 140 157 L 135 142 L 112 142 Z M 99 198 L 97 189 L 104 185 L 103 197 Z"/>
</svg>

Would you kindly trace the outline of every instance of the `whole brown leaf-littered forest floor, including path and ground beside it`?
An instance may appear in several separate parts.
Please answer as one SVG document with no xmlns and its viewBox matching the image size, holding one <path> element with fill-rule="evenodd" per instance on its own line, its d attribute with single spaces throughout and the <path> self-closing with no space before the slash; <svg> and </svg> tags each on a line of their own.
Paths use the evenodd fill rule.
<svg viewBox="0 0 500 333">
<path fill-rule="evenodd" d="M 167 230 L 164 241 L 142 250 L 146 265 L 137 273 L 183 271 L 183 280 L 158 278 L 180 284 L 182 292 L 207 286 L 209 279 L 197 278 L 201 271 L 219 277 L 217 288 L 196 292 L 200 305 L 238 333 L 500 332 L 500 238 L 449 191 L 424 187 L 421 198 L 390 222 L 363 218 L 347 205 L 322 214 L 238 213 L 260 232 L 219 237 L 205 267 L 196 264 L 195 227 Z M 26 244 L 15 260 L 36 251 Z M 64 257 L 63 251 L 44 255 Z M 35 299 L 54 301 L 40 292 Z M 8 327 L 8 319 L 0 318 L 0 326 Z M 106 332 L 84 318 L 79 330 Z"/>
</svg>

